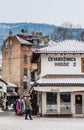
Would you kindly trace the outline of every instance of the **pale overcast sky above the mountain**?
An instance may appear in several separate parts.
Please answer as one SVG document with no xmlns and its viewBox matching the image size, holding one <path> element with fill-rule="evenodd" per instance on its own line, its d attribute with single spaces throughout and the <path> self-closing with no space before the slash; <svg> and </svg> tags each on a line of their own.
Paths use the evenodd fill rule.
<svg viewBox="0 0 84 130">
<path fill-rule="evenodd" d="M 84 27 L 84 0 L 0 0 L 0 22 L 70 22 Z"/>
</svg>

